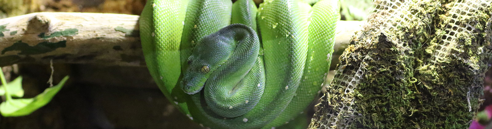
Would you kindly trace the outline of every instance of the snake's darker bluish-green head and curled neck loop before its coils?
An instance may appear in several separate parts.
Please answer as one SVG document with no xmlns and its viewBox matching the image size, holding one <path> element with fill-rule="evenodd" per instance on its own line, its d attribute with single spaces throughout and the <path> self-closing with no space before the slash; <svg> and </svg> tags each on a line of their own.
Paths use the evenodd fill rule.
<svg viewBox="0 0 492 129">
<path fill-rule="evenodd" d="M 227 118 L 244 115 L 263 95 L 265 73 L 258 60 L 259 46 L 256 32 L 243 24 L 232 24 L 205 36 L 188 58 L 182 81 L 184 92 L 196 94 L 199 91 L 187 89 L 205 87 L 206 104 L 215 114 Z M 201 72 L 202 66 L 210 67 L 210 71 Z"/>
</svg>

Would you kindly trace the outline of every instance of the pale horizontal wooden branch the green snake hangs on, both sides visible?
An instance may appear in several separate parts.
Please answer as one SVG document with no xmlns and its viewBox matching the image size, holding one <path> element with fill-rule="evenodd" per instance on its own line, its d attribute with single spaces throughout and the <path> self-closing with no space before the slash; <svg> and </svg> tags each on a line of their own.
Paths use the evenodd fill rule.
<svg viewBox="0 0 492 129">
<path fill-rule="evenodd" d="M 0 66 L 16 63 L 145 66 L 138 15 L 39 12 L 0 19 Z M 365 22 L 338 22 L 334 63 Z"/>
</svg>

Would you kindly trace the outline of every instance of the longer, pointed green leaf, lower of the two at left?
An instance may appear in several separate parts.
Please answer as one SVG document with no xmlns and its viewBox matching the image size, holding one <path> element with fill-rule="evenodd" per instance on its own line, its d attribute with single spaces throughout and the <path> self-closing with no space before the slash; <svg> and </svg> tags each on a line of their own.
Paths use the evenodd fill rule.
<svg viewBox="0 0 492 129">
<path fill-rule="evenodd" d="M 43 93 L 33 98 L 7 99 L 0 104 L 0 113 L 4 117 L 26 116 L 46 105 L 62 89 L 68 79 L 65 76 L 56 86 L 47 88 Z"/>
</svg>

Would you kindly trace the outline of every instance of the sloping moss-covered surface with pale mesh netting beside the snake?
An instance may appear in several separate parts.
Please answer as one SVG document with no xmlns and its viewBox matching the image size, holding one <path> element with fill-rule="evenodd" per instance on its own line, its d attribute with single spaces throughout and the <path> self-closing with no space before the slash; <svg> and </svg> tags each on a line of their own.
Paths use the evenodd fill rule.
<svg viewBox="0 0 492 129">
<path fill-rule="evenodd" d="M 310 129 L 467 128 L 491 60 L 491 0 L 374 4 Z"/>
</svg>

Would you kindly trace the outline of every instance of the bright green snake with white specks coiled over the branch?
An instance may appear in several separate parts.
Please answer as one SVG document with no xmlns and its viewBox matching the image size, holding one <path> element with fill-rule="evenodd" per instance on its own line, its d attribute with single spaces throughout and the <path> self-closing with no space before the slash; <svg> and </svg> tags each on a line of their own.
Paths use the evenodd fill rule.
<svg viewBox="0 0 492 129">
<path fill-rule="evenodd" d="M 338 0 L 148 0 L 140 18 L 155 82 L 212 129 L 274 129 L 318 95 Z"/>
</svg>

